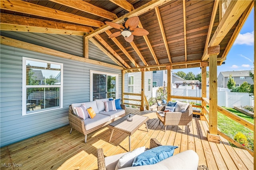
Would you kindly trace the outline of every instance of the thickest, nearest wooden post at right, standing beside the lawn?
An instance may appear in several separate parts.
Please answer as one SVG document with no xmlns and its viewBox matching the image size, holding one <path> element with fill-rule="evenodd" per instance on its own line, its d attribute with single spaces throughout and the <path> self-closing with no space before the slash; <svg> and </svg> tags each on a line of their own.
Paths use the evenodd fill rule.
<svg viewBox="0 0 256 170">
<path fill-rule="evenodd" d="M 217 100 L 217 56 L 220 53 L 220 45 L 208 47 L 209 56 L 209 133 L 208 141 L 220 143 L 218 136 L 218 100 Z"/>
</svg>

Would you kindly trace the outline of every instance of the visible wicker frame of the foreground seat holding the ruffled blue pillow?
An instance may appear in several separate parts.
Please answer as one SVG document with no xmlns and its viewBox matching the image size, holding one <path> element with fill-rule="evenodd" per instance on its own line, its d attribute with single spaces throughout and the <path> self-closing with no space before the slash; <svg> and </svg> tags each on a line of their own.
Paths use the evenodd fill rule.
<svg viewBox="0 0 256 170">
<path fill-rule="evenodd" d="M 160 144 L 160 142 L 156 138 L 151 138 L 149 149 L 155 148 L 157 146 L 162 146 L 162 144 Z M 97 158 L 98 158 L 98 170 L 106 170 L 104 152 L 103 152 L 102 148 L 97 149 Z M 142 167 L 140 167 L 140 168 L 142 168 Z M 208 168 L 205 165 L 200 165 L 200 166 L 198 166 L 198 170 L 208 170 Z"/>
</svg>

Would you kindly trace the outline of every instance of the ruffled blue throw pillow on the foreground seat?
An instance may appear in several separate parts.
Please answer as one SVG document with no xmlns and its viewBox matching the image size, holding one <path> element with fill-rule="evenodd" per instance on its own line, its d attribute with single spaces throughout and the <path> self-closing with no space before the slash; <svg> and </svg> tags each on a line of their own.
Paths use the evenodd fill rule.
<svg viewBox="0 0 256 170">
<path fill-rule="evenodd" d="M 151 165 L 160 162 L 173 155 L 178 146 L 158 146 L 139 154 L 133 161 L 132 166 Z"/>
</svg>

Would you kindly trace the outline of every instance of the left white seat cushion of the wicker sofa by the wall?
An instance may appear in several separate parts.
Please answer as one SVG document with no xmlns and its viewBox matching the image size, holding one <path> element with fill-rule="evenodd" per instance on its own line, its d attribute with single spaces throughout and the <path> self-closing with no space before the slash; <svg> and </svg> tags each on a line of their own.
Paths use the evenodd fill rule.
<svg viewBox="0 0 256 170">
<path fill-rule="evenodd" d="M 103 123 L 110 121 L 110 117 L 107 115 L 102 115 L 100 113 L 96 114 L 93 119 L 85 119 L 84 126 L 85 130 L 89 130 L 91 128 L 97 127 Z"/>
</svg>

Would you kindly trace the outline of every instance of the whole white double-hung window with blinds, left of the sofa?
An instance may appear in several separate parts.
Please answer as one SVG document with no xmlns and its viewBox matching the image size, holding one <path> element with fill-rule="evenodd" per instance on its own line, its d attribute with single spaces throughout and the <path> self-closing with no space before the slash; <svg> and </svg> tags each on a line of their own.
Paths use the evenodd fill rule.
<svg viewBox="0 0 256 170">
<path fill-rule="evenodd" d="M 22 115 L 61 109 L 63 64 L 22 58 Z"/>
</svg>

